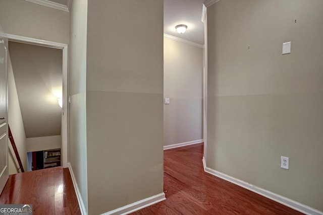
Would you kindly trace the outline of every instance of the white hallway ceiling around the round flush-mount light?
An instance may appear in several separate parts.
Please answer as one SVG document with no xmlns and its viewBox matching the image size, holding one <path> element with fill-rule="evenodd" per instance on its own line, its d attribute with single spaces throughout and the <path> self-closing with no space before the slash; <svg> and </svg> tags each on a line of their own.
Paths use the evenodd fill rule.
<svg viewBox="0 0 323 215">
<path fill-rule="evenodd" d="M 205 0 L 164 0 L 164 33 L 203 45 L 203 2 Z M 187 31 L 177 33 L 177 25 L 187 25 Z"/>
</svg>

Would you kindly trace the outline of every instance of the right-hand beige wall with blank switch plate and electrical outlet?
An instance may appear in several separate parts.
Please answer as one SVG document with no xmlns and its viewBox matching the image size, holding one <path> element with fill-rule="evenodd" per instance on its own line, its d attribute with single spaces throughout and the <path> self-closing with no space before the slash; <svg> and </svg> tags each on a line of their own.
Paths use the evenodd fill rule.
<svg viewBox="0 0 323 215">
<path fill-rule="evenodd" d="M 223 0 L 207 22 L 207 167 L 323 211 L 323 1 Z"/>
</svg>

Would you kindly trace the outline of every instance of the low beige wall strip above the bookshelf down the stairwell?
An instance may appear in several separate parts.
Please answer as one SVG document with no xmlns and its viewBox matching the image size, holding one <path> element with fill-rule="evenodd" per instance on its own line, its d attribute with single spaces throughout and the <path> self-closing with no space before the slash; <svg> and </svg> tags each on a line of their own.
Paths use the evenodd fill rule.
<svg viewBox="0 0 323 215">
<path fill-rule="evenodd" d="M 61 147 L 61 135 L 27 138 L 27 152 L 61 149 Z"/>
</svg>

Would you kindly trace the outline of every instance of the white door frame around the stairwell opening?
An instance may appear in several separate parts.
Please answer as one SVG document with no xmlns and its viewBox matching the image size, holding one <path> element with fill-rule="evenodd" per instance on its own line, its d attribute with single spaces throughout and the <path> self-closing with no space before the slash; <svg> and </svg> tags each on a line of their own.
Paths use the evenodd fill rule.
<svg viewBox="0 0 323 215">
<path fill-rule="evenodd" d="M 63 167 L 68 167 L 68 136 L 67 136 L 67 119 L 68 119 L 68 99 L 67 99 L 67 79 L 68 79 L 68 44 L 40 40 L 30 37 L 23 37 L 13 34 L 6 34 L 9 41 L 27 43 L 32 45 L 45 46 L 63 50 L 63 107 L 62 107 L 62 157 Z"/>
</svg>

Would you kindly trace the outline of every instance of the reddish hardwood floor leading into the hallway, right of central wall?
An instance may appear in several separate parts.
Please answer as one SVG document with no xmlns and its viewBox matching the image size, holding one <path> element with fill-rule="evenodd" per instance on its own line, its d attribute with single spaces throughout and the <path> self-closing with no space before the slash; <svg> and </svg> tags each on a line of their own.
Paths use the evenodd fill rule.
<svg viewBox="0 0 323 215">
<path fill-rule="evenodd" d="M 166 200 L 131 214 L 303 214 L 205 173 L 203 144 L 164 151 Z"/>
</svg>

